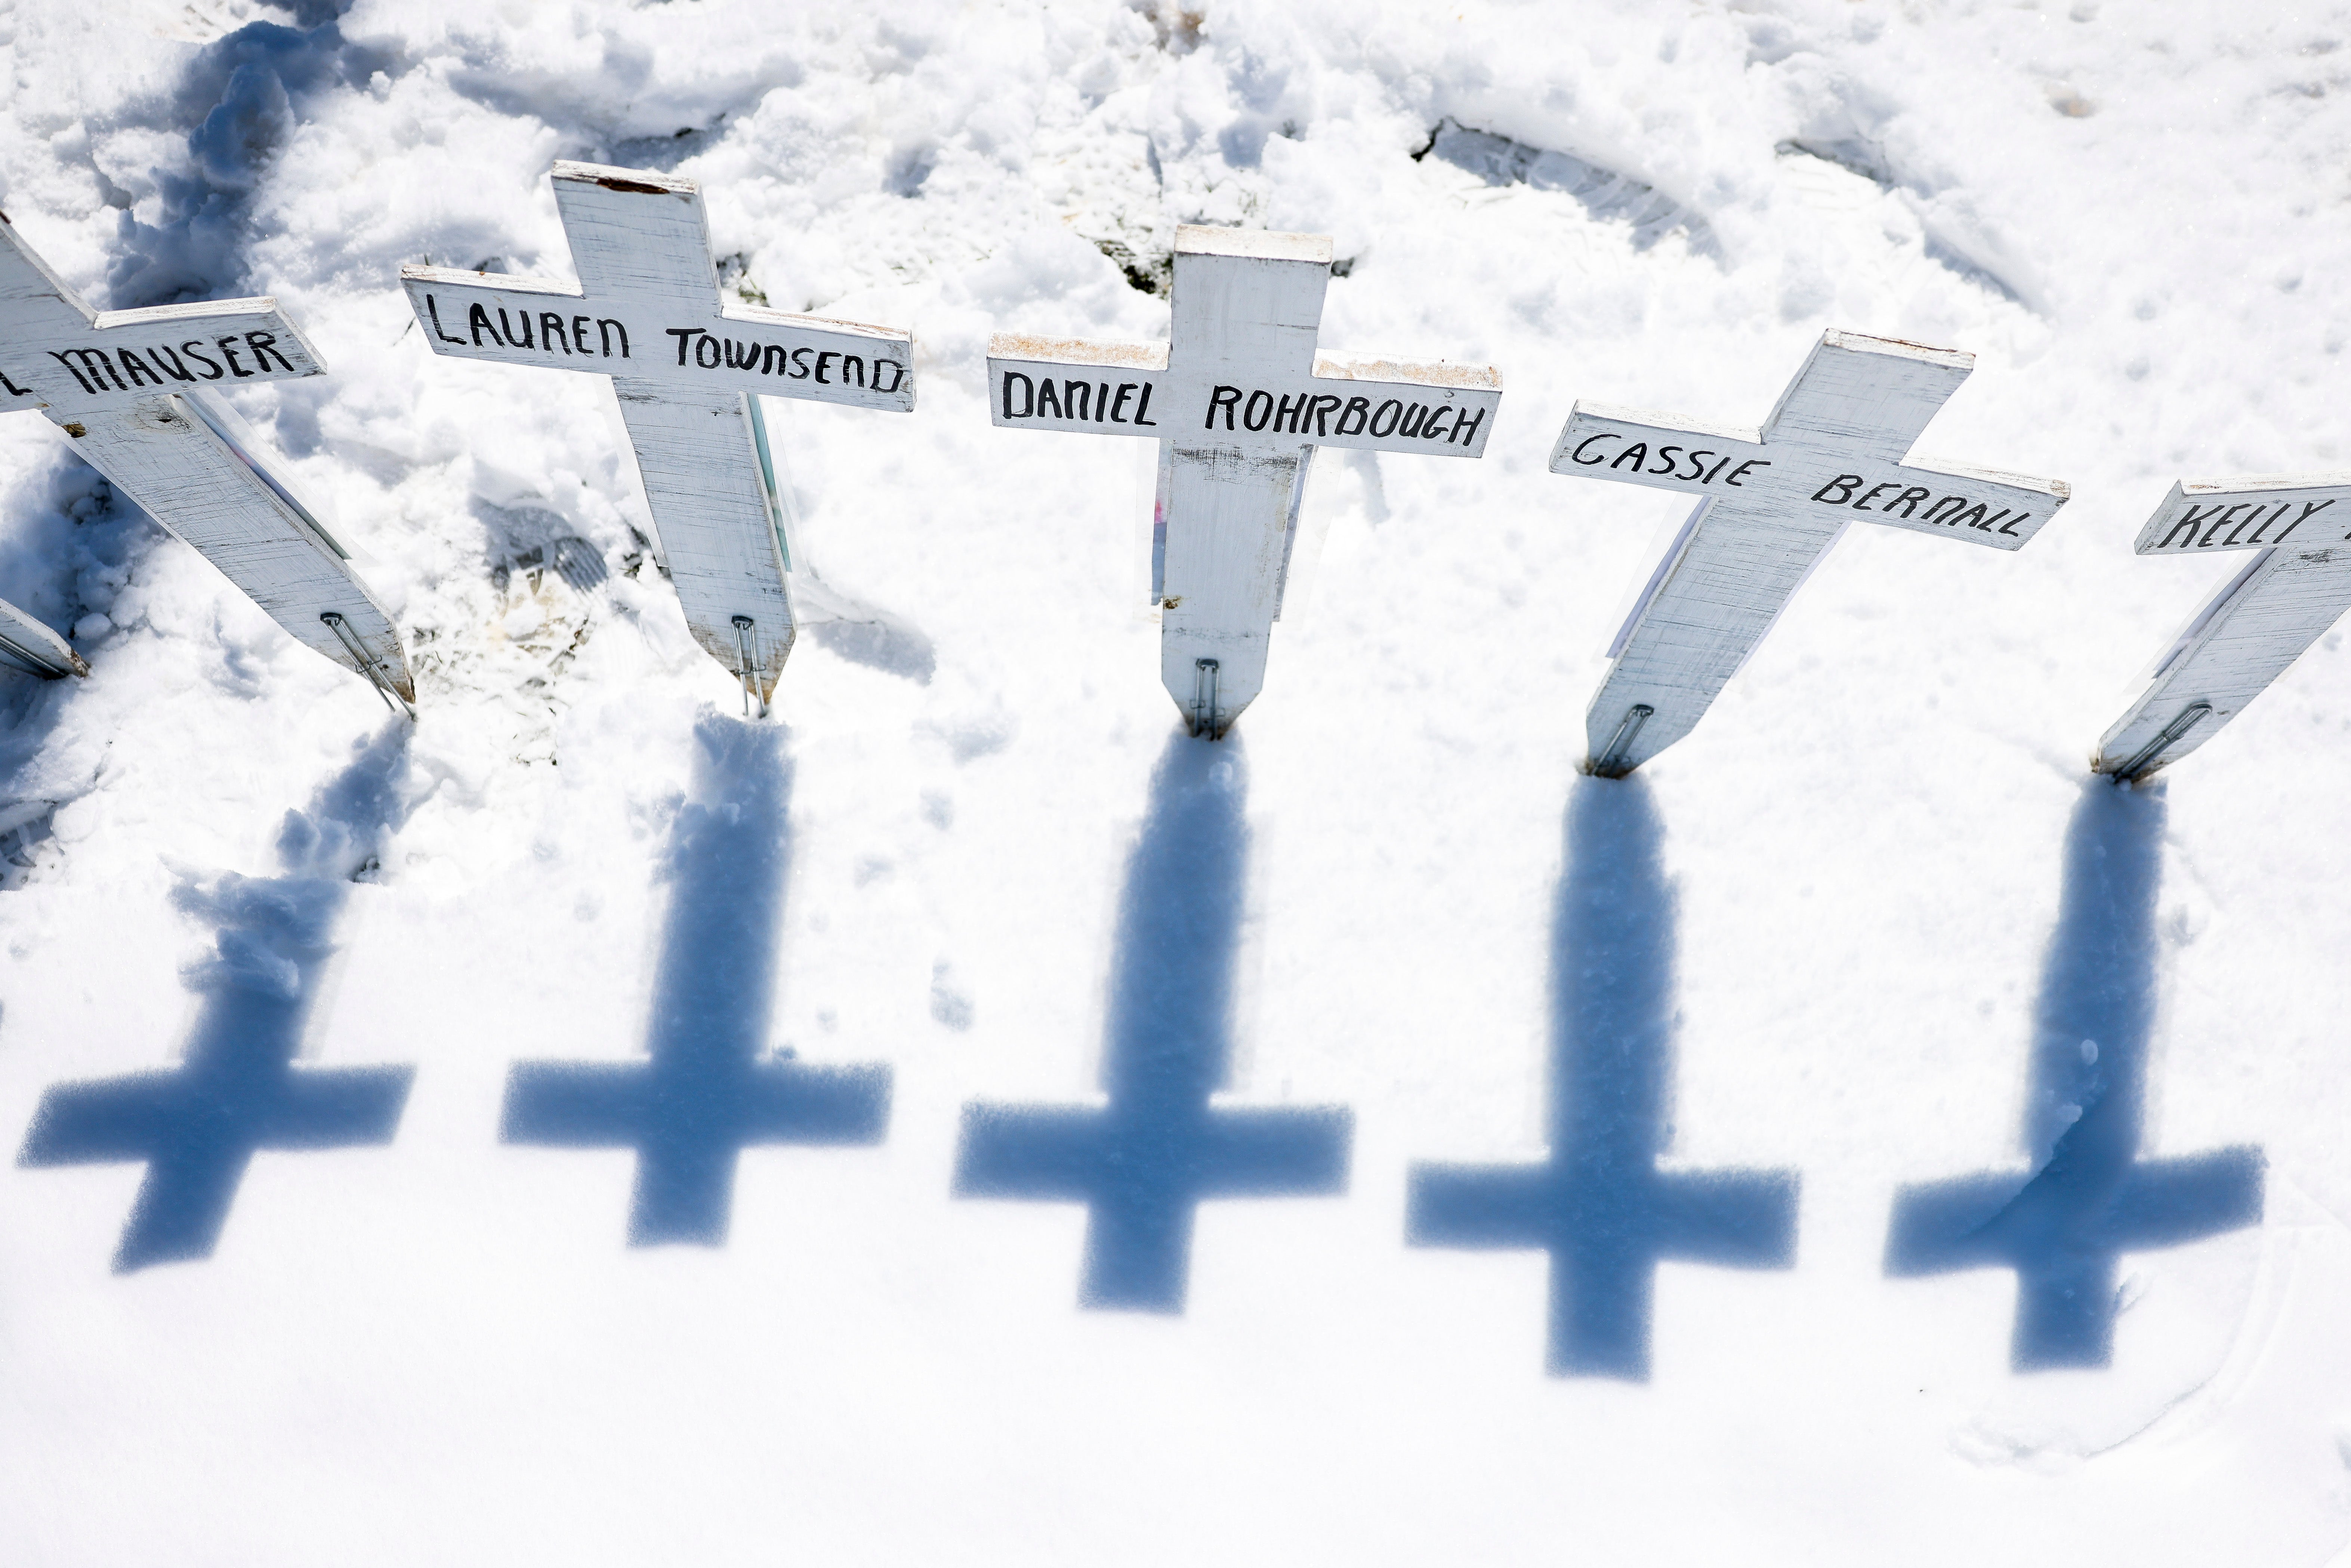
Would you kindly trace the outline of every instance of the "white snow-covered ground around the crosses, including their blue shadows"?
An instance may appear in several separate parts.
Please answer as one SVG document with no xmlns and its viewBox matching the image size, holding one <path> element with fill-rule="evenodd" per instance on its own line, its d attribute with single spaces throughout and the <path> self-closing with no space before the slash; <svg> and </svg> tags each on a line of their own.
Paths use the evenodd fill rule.
<svg viewBox="0 0 2351 1568">
<path fill-rule="evenodd" d="M 423 705 L 0 421 L 0 597 L 94 665 L 0 684 L 9 1561 L 2342 1552 L 2351 654 L 2085 759 L 2236 564 L 2128 552 L 2170 482 L 2351 465 L 2351 7 L 329 12 L 0 9 L 0 207 L 303 322 L 240 407 Z M 404 261 L 569 275 L 557 158 L 917 334 L 912 416 L 769 402 L 844 616 L 769 724 L 611 393 L 409 327 Z M 990 329 L 1161 336 L 1180 221 L 1507 378 L 1479 463 L 1321 456 L 1220 748 L 1150 447 L 983 402 Z M 1545 473 L 1568 404 L 1751 425 L 1829 327 L 1980 355 L 1923 449 L 2074 503 L 1850 531 L 1578 778 L 1686 501 Z M 1091 1251 L 1056 1138 L 1124 1152 Z M 1556 1281 L 1441 1246 L 1507 1180 Z"/>
</svg>

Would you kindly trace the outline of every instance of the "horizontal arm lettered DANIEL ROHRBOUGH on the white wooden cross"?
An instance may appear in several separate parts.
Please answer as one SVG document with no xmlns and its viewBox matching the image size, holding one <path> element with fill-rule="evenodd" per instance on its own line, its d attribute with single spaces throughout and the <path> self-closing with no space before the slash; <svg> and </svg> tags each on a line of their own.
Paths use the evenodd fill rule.
<svg viewBox="0 0 2351 1568">
<path fill-rule="evenodd" d="M 987 343 L 990 418 L 1027 430 L 1474 458 L 1500 402 L 1502 376 L 1491 367 L 1324 355 L 1310 376 L 1293 376 L 1237 364 L 1171 369 L 1166 343 L 1023 334 Z"/>
</svg>

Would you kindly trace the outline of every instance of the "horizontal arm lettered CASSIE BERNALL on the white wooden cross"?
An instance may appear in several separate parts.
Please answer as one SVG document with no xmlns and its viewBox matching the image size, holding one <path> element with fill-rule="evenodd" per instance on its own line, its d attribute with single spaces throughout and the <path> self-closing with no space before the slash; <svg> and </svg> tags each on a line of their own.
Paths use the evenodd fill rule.
<svg viewBox="0 0 2351 1568">
<path fill-rule="evenodd" d="M 1860 512 L 1869 522 L 2017 550 L 2067 498 L 2059 480 L 1963 468 L 1937 458 L 1888 463 L 1761 442 L 1754 430 L 1700 425 L 1648 409 L 1578 402 L 1552 449 L 1552 473 L 1714 496 L 1723 517 Z"/>
</svg>

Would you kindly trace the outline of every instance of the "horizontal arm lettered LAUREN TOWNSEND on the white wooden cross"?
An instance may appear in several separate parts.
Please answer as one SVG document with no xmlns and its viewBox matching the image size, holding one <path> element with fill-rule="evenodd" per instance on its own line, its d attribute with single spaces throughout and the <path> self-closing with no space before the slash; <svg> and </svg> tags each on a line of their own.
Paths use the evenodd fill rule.
<svg viewBox="0 0 2351 1568">
<path fill-rule="evenodd" d="M 400 268 L 400 284 L 433 353 L 458 360 L 900 414 L 915 407 L 915 341 L 889 327 L 752 306 L 696 315 L 590 299 L 543 277 L 426 266 Z"/>
</svg>

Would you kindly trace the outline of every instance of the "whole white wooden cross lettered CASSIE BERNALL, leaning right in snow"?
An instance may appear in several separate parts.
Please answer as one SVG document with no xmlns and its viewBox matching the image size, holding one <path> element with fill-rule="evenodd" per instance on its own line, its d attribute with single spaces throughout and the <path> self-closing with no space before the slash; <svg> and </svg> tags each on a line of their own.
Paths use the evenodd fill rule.
<svg viewBox="0 0 2351 1568">
<path fill-rule="evenodd" d="M 1585 710 L 1594 773 L 1622 778 L 1690 733 L 1855 512 L 2015 550 L 2064 505 L 2059 480 L 1904 461 L 1972 364 L 1829 331 L 1761 430 L 1575 404 L 1552 473 L 1704 496 L 1608 646 Z"/>
</svg>

